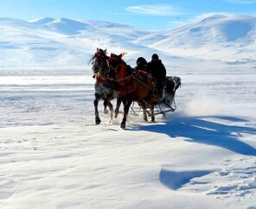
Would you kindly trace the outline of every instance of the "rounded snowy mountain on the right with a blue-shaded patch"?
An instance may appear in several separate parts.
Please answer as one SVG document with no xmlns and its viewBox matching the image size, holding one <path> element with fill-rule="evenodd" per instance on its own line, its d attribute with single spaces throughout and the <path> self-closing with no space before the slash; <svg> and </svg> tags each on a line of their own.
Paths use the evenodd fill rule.
<svg viewBox="0 0 256 209">
<path fill-rule="evenodd" d="M 144 38 L 150 48 L 161 49 L 170 54 L 189 55 L 201 58 L 255 61 L 256 17 L 253 16 L 208 16 L 200 22 L 189 23 L 181 28 L 170 29 L 155 36 Z M 150 41 L 153 43 L 149 44 Z"/>
</svg>

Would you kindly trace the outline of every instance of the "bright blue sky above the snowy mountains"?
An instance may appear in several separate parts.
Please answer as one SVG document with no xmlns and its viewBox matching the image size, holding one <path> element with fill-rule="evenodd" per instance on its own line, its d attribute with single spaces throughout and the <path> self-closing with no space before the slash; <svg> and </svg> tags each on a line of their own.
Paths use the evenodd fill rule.
<svg viewBox="0 0 256 209">
<path fill-rule="evenodd" d="M 148 29 L 174 28 L 211 13 L 256 16 L 256 0 L 0 0 L 0 17 L 67 17 Z"/>
</svg>

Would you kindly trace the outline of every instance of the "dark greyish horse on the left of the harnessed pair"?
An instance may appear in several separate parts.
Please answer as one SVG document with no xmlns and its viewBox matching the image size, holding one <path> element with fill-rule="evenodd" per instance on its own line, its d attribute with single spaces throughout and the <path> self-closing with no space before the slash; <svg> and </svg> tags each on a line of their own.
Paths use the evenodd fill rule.
<svg viewBox="0 0 256 209">
<path fill-rule="evenodd" d="M 90 60 L 90 63 L 93 64 L 93 78 L 96 79 L 94 85 L 94 111 L 95 111 L 95 123 L 99 124 L 101 122 L 99 118 L 98 104 L 99 100 L 104 100 L 104 113 L 107 113 L 106 107 L 110 110 L 111 120 L 113 119 L 113 106 L 111 100 L 117 98 L 117 95 L 112 91 L 111 88 L 106 87 L 107 76 L 109 71 L 109 57 L 106 55 L 106 50 L 97 48 L 96 52 L 93 54 L 93 57 Z"/>
</svg>

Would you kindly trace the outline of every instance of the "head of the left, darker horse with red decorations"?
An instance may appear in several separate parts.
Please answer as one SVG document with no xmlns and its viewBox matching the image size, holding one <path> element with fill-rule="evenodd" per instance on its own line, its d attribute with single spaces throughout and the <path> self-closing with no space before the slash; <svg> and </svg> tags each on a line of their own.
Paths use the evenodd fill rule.
<svg viewBox="0 0 256 209">
<path fill-rule="evenodd" d="M 108 73 L 109 57 L 106 55 L 106 49 L 97 48 L 93 54 L 91 63 L 93 64 L 93 73 L 101 73 L 104 76 Z"/>
</svg>

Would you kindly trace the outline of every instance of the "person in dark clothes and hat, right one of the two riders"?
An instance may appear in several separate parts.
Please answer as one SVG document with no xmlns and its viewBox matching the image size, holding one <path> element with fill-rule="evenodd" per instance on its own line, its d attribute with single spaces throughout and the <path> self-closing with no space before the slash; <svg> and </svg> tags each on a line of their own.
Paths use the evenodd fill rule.
<svg viewBox="0 0 256 209">
<path fill-rule="evenodd" d="M 159 60 L 157 54 L 152 55 L 152 60 L 148 63 L 147 72 L 152 74 L 152 77 L 157 82 L 157 94 L 160 98 L 163 97 L 163 85 L 166 76 L 166 69 L 163 66 L 162 60 Z"/>
</svg>

